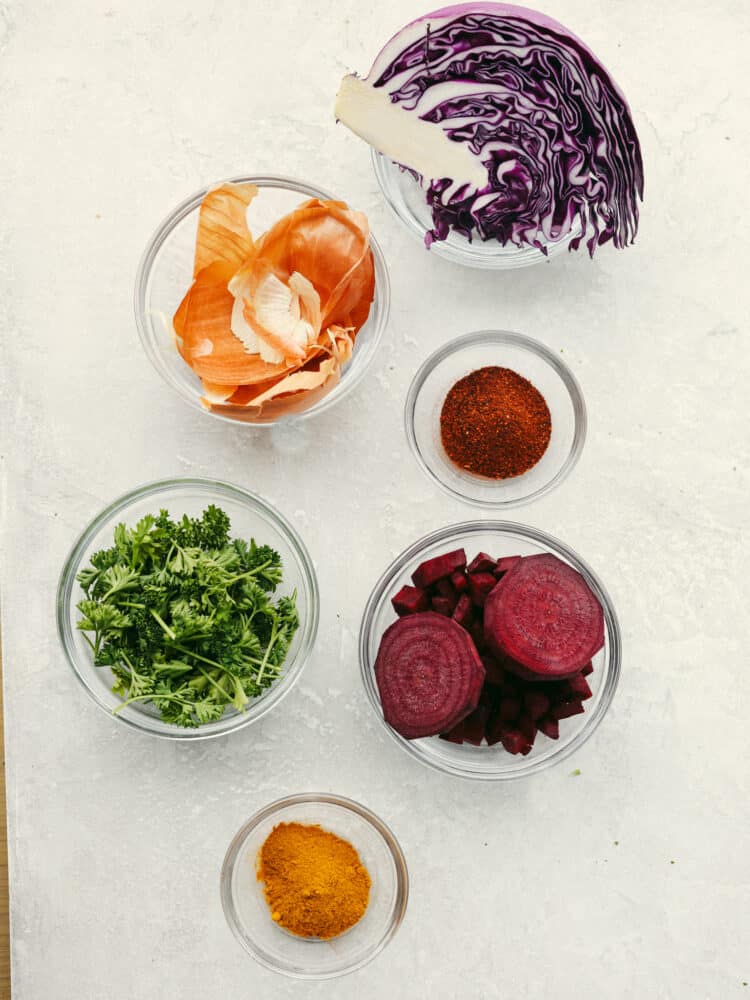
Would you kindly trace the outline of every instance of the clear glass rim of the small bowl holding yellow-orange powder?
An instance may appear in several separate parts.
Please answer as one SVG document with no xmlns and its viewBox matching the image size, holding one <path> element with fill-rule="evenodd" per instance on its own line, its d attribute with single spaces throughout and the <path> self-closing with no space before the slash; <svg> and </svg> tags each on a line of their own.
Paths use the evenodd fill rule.
<svg viewBox="0 0 750 1000">
<path fill-rule="evenodd" d="M 376 832 L 383 838 L 396 868 L 396 898 L 391 919 L 389 920 L 388 927 L 385 932 L 381 935 L 378 941 L 376 941 L 372 947 L 368 949 L 367 953 L 359 959 L 359 961 L 353 962 L 351 965 L 344 966 L 341 969 L 323 973 L 299 972 L 295 969 L 280 966 L 270 959 L 263 949 L 257 947 L 254 940 L 245 933 L 244 926 L 237 914 L 232 895 L 232 874 L 239 860 L 242 845 L 247 840 L 248 835 L 264 820 L 282 812 L 289 806 L 300 804 L 304 805 L 307 803 L 324 803 L 327 805 L 337 806 L 341 809 L 347 809 L 349 812 L 355 813 L 361 819 L 366 820 L 367 823 L 369 823 L 369 825 L 373 827 L 373 829 L 375 829 Z M 298 795 L 287 795 L 284 798 L 276 799 L 274 802 L 269 803 L 267 806 L 264 806 L 251 816 L 250 819 L 237 831 L 227 848 L 227 852 L 224 856 L 224 863 L 221 866 L 220 892 L 222 909 L 224 910 L 224 916 L 229 924 L 230 930 L 243 946 L 245 951 L 247 951 L 256 962 L 259 962 L 272 972 L 279 972 L 285 976 L 291 977 L 292 979 L 335 979 L 339 976 L 348 975 L 350 972 L 355 972 L 357 969 L 361 969 L 363 966 L 368 965 L 377 955 L 380 954 L 396 933 L 402 920 L 404 919 L 406 905 L 409 901 L 409 870 L 406 865 L 406 858 L 401 850 L 401 845 L 396 839 L 393 831 L 386 823 L 383 822 L 382 819 L 380 819 L 379 816 L 366 806 L 361 805 L 359 802 L 355 802 L 353 799 L 345 798 L 343 795 L 333 795 L 328 792 L 304 792 Z"/>
</svg>

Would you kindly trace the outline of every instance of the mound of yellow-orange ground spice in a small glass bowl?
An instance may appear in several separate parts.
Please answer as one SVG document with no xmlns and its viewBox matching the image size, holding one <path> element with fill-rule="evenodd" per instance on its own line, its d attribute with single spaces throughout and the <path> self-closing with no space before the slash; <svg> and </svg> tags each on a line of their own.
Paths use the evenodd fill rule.
<svg viewBox="0 0 750 1000">
<path fill-rule="evenodd" d="M 370 875 L 354 847 L 320 826 L 279 823 L 258 855 L 271 917 L 300 937 L 332 938 L 362 917 Z"/>
</svg>

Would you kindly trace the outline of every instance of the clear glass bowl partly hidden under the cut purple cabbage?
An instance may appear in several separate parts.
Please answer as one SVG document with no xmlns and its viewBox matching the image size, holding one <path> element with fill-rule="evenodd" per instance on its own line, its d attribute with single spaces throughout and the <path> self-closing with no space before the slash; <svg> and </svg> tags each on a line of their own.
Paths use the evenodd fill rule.
<svg viewBox="0 0 750 1000">
<path fill-rule="evenodd" d="M 403 170 L 375 149 L 372 150 L 372 165 L 391 211 L 424 248 L 425 233 L 433 226 L 424 189 L 408 170 Z M 517 247 L 511 243 L 503 246 L 497 240 L 480 240 L 478 237 L 469 242 L 465 236 L 453 231 L 447 239 L 436 240 L 428 252 L 464 267 L 511 271 L 531 264 L 543 264 L 559 256 L 579 232 L 579 226 L 574 226 L 563 239 L 548 241 L 546 256 L 531 246 Z"/>
</svg>

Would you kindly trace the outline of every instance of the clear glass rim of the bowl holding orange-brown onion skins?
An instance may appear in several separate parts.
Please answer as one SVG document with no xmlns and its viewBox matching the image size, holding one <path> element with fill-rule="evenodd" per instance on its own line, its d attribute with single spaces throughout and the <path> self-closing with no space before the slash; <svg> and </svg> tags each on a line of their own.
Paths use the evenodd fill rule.
<svg viewBox="0 0 750 1000">
<path fill-rule="evenodd" d="M 324 188 L 308 184 L 306 181 L 301 181 L 294 177 L 285 177 L 282 174 L 254 174 L 237 177 L 225 177 L 213 182 L 212 184 L 202 187 L 199 191 L 196 191 L 188 198 L 185 198 L 184 201 L 180 202 L 176 208 L 172 209 L 172 211 L 159 223 L 153 236 L 146 244 L 146 249 L 143 251 L 138 264 L 138 270 L 135 277 L 135 288 L 133 292 L 133 308 L 135 311 L 135 323 L 138 330 L 138 336 L 141 341 L 141 346 L 143 347 L 146 357 L 149 359 L 152 367 L 166 382 L 166 384 L 170 386 L 173 392 L 177 393 L 180 399 L 186 402 L 192 409 L 197 409 L 216 420 L 222 420 L 225 423 L 231 424 L 233 427 L 245 426 L 250 428 L 276 427 L 282 422 L 300 422 L 302 420 L 307 420 L 308 418 L 316 416 L 324 410 L 327 410 L 329 406 L 332 406 L 338 400 L 343 399 L 344 396 L 348 395 L 351 390 L 359 384 L 360 380 L 365 375 L 368 366 L 364 365 L 359 371 L 348 375 L 346 378 L 342 378 L 339 384 L 335 386 L 331 392 L 311 406 L 309 410 L 302 410 L 299 413 L 290 414 L 288 417 L 282 417 L 277 420 L 269 420 L 263 423 L 253 423 L 251 421 L 236 420 L 233 417 L 224 413 L 217 413 L 214 410 L 207 410 L 201 405 L 197 395 L 193 397 L 192 394 L 184 392 L 172 381 L 168 373 L 161 365 L 158 353 L 151 342 L 145 318 L 146 291 L 148 288 L 151 269 L 153 268 L 156 256 L 175 227 L 200 206 L 209 191 L 212 191 L 221 184 L 255 184 L 259 188 L 282 188 L 286 191 L 294 191 L 298 194 L 307 195 L 309 198 L 336 198 L 335 195 L 331 194 L 330 191 L 327 191 Z M 373 307 L 374 303 L 377 302 L 379 304 L 380 313 L 378 322 L 373 330 L 370 343 L 370 353 L 374 356 L 388 324 L 388 316 L 391 308 L 391 283 L 385 256 L 372 231 L 370 232 L 370 248 L 372 249 L 375 263 L 375 299 L 373 300 Z M 357 346 L 355 343 L 354 350 L 356 351 L 356 349 Z M 372 360 L 372 358 L 370 360 Z"/>
</svg>

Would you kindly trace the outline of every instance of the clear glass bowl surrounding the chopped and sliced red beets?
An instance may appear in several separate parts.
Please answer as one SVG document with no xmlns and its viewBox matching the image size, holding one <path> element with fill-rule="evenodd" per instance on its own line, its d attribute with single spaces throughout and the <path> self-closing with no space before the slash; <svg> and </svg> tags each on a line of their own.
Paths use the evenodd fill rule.
<svg viewBox="0 0 750 1000">
<path fill-rule="evenodd" d="M 604 647 L 592 661 L 594 672 L 586 678 L 593 692 L 593 697 L 585 703 L 586 711 L 561 721 L 558 740 L 539 733 L 527 757 L 509 754 L 500 743 L 492 747 L 474 747 L 466 743 L 449 743 L 438 736 L 407 740 L 391 729 L 383 718 L 375 682 L 375 658 L 383 632 L 396 620 L 391 597 L 404 584 L 411 583 L 411 574 L 423 560 L 462 546 L 469 559 L 478 552 L 488 552 L 495 558 L 551 552 L 584 577 L 604 609 Z M 565 760 L 583 746 L 612 702 L 620 677 L 621 647 L 620 626 L 612 602 L 593 570 L 563 542 L 543 531 L 510 521 L 467 521 L 420 538 L 391 563 L 375 584 L 359 633 L 362 682 L 376 716 L 391 737 L 422 764 L 460 778 L 483 781 L 503 781 L 536 774 Z"/>
</svg>

